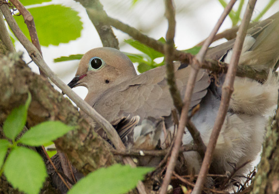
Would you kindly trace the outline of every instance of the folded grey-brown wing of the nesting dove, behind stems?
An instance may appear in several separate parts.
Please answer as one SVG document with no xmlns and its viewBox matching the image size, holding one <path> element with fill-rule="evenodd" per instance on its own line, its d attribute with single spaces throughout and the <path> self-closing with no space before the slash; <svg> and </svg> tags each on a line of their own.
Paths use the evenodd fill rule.
<svg viewBox="0 0 279 194">
<path fill-rule="evenodd" d="M 175 63 L 174 67 L 177 87 L 183 97 L 190 69 L 179 63 Z M 138 75 L 104 92 L 93 104 L 93 108 L 109 121 L 127 115 L 139 115 L 141 119 L 169 116 L 174 105 L 165 75 L 165 66 Z M 200 71 L 190 107 L 200 103 L 209 84 L 208 74 Z"/>
</svg>

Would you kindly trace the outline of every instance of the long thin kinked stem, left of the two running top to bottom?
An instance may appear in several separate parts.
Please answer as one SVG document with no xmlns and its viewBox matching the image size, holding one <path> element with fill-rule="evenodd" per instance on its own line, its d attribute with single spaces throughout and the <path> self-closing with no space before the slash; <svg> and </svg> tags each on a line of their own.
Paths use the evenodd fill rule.
<svg viewBox="0 0 279 194">
<path fill-rule="evenodd" d="M 166 175 L 165 175 L 162 187 L 160 189 L 160 194 L 166 194 L 168 185 L 171 181 L 171 175 L 172 175 L 174 166 L 177 161 L 179 147 L 181 146 L 181 142 L 182 142 L 182 136 L 184 134 L 185 126 L 188 123 L 188 111 L 189 111 L 189 107 L 190 107 L 191 96 L 192 96 L 195 82 L 196 82 L 196 77 L 199 73 L 200 63 L 203 61 L 207 48 L 212 43 L 213 38 L 216 35 L 218 29 L 220 28 L 221 24 L 225 20 L 226 16 L 230 13 L 230 10 L 233 8 L 233 4 L 235 1 L 236 0 L 231 0 L 229 2 L 228 6 L 225 8 L 224 12 L 220 16 L 216 26 L 210 33 L 210 35 L 207 38 L 207 40 L 205 41 L 204 45 L 202 45 L 200 52 L 197 54 L 197 57 L 194 58 L 194 60 L 191 63 L 191 70 L 190 70 L 191 73 L 190 73 L 190 76 L 189 76 L 189 79 L 187 82 L 185 96 L 184 96 L 184 100 L 183 100 L 184 105 L 183 105 L 183 109 L 182 109 L 180 120 L 179 120 L 177 134 L 174 139 L 174 146 L 173 146 L 173 149 L 171 152 L 170 162 L 168 164 Z M 198 135 L 198 134 L 193 134 L 193 136 L 195 136 L 195 135 Z"/>
</svg>

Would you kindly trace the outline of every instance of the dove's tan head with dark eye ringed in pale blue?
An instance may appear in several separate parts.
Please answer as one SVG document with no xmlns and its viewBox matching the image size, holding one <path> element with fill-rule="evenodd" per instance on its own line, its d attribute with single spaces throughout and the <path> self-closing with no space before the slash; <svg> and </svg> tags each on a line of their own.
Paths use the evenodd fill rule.
<svg viewBox="0 0 279 194">
<path fill-rule="evenodd" d="M 94 48 L 81 58 L 70 88 L 84 86 L 88 92 L 104 91 L 136 76 L 134 65 L 117 49 Z"/>
</svg>

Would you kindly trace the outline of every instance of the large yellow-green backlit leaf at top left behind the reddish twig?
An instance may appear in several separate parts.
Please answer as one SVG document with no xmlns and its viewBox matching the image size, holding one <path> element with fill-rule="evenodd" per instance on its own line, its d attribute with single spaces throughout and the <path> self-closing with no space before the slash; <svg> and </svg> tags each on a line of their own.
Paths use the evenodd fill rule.
<svg viewBox="0 0 279 194">
<path fill-rule="evenodd" d="M 28 9 L 34 18 L 40 44 L 43 46 L 68 43 L 80 37 L 82 22 L 78 12 L 62 5 Z M 22 16 L 15 16 L 23 33 L 30 35 Z"/>
</svg>

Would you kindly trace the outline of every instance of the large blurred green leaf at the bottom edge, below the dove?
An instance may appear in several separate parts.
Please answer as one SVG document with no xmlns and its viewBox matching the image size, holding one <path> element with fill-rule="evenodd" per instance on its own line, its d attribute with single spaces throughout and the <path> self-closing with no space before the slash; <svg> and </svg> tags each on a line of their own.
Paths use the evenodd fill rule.
<svg viewBox="0 0 279 194">
<path fill-rule="evenodd" d="M 136 187 L 153 168 L 115 164 L 100 168 L 78 181 L 68 194 L 124 194 Z"/>
</svg>

